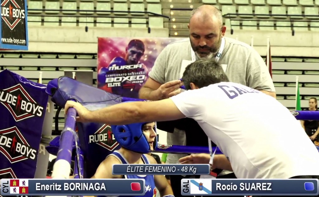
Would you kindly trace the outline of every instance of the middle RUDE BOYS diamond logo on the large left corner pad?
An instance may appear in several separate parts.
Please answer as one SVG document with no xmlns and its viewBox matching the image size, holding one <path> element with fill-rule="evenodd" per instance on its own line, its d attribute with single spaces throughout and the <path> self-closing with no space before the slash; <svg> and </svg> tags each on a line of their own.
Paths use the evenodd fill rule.
<svg viewBox="0 0 319 197">
<path fill-rule="evenodd" d="M 11 164 L 26 159 L 34 160 L 37 156 L 37 150 L 30 146 L 16 126 L 0 130 L 0 152 Z"/>
</svg>

